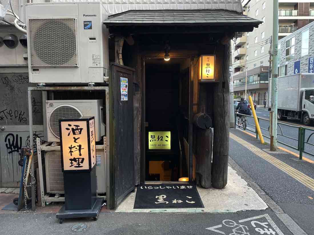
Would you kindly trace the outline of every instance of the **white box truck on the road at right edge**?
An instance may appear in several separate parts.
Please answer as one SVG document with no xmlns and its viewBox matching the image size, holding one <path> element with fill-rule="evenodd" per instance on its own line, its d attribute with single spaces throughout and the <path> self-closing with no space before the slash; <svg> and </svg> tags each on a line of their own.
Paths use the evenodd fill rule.
<svg viewBox="0 0 314 235">
<path fill-rule="evenodd" d="M 293 118 L 305 125 L 314 121 L 314 74 L 278 77 L 278 120 Z"/>
</svg>

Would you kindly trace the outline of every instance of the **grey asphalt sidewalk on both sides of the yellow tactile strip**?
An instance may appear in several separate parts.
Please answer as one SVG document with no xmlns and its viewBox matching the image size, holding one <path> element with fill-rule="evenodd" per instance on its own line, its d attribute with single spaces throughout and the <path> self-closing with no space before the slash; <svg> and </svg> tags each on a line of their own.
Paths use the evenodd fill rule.
<svg viewBox="0 0 314 235">
<path fill-rule="evenodd" d="M 269 149 L 252 136 L 240 130 L 230 132 L 260 149 Z M 308 235 L 314 234 L 314 191 L 301 184 L 297 178 L 279 170 L 248 148 L 230 138 L 230 157 L 287 213 Z M 300 161 L 290 154 L 270 154 L 290 167 L 314 179 L 314 164 Z"/>
</svg>

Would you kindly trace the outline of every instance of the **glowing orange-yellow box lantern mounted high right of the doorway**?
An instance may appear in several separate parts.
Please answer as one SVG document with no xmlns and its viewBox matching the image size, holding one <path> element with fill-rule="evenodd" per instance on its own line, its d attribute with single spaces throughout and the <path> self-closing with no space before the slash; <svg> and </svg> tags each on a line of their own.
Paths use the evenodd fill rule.
<svg viewBox="0 0 314 235">
<path fill-rule="evenodd" d="M 198 79 L 202 81 L 215 81 L 215 56 L 201 55 L 199 58 L 199 76 Z"/>
</svg>

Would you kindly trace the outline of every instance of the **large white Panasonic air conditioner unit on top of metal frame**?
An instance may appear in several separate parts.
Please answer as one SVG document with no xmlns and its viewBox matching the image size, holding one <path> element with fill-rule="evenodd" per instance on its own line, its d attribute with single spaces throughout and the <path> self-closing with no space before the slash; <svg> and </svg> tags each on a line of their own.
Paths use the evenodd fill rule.
<svg viewBox="0 0 314 235">
<path fill-rule="evenodd" d="M 101 3 L 29 3 L 26 17 L 30 82 L 104 82 L 108 16 Z"/>
</svg>

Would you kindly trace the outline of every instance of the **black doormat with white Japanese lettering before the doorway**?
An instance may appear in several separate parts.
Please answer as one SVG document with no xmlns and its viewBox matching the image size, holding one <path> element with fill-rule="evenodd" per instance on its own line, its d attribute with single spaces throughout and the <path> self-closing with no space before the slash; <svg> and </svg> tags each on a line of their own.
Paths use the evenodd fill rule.
<svg viewBox="0 0 314 235">
<path fill-rule="evenodd" d="M 140 184 L 134 209 L 204 208 L 196 185 L 193 184 Z"/>
</svg>

